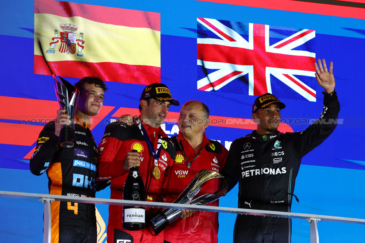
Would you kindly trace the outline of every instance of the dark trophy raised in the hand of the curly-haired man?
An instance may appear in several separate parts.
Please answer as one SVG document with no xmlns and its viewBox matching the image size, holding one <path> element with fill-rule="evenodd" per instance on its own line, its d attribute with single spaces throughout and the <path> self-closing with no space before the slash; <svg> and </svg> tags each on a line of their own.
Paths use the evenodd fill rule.
<svg viewBox="0 0 365 243">
<path fill-rule="evenodd" d="M 65 109 L 71 120 L 69 125 L 63 125 L 59 133 L 59 144 L 64 148 L 72 148 L 76 143 L 74 117 L 76 111 L 77 100 L 80 92 L 75 86 L 67 82 L 64 78 L 52 75 L 54 78 L 54 89 L 56 91 L 59 107 Z"/>
</svg>

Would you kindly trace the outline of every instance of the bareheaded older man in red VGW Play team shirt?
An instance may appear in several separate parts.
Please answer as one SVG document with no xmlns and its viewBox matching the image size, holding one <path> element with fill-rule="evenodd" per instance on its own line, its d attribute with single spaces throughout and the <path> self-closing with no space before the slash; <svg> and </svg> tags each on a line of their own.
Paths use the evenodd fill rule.
<svg viewBox="0 0 365 243">
<path fill-rule="evenodd" d="M 209 126 L 209 109 L 200 101 L 191 100 L 181 107 L 178 120 L 179 134 L 171 140 L 176 144 L 175 161 L 172 166 L 164 202 L 172 202 L 200 170 L 220 172 L 228 151 L 217 141 L 205 136 Z M 212 179 L 202 185 L 196 197 L 214 193 L 220 180 Z M 218 206 L 218 200 L 207 204 Z M 185 219 L 186 218 L 186 219 Z M 164 229 L 165 243 L 214 243 L 218 242 L 218 213 L 183 210 L 178 218 Z"/>
</svg>

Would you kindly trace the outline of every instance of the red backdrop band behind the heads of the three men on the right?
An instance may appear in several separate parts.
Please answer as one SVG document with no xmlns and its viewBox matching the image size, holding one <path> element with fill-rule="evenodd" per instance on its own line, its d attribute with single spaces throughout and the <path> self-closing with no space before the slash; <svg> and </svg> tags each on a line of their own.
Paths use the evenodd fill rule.
<svg viewBox="0 0 365 243">
<path fill-rule="evenodd" d="M 138 109 L 135 108 L 125 108 L 120 107 L 112 117 L 120 117 L 122 115 L 139 115 Z M 166 116 L 165 122 L 174 122 L 177 123 L 179 112 L 169 112 Z M 255 130 L 256 123 L 252 121 L 252 119 L 245 119 L 245 118 L 235 118 L 235 117 L 225 117 L 225 116 L 209 116 L 211 119 L 210 126 L 214 127 L 228 127 L 228 128 L 241 128 L 241 129 L 249 129 Z M 293 132 L 293 128 L 291 128 L 286 123 L 280 123 L 279 127 L 280 132 Z"/>
</svg>

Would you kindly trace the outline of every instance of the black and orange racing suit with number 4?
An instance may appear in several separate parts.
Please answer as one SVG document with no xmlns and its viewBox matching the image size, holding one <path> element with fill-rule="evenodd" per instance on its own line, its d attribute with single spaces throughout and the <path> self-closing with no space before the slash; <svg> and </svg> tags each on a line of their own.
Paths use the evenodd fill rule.
<svg viewBox="0 0 365 243">
<path fill-rule="evenodd" d="M 59 146 L 54 121 L 46 124 L 30 159 L 30 170 L 35 175 L 47 173 L 50 194 L 95 197 L 98 150 L 90 124 L 75 119 L 76 144 L 72 148 Z M 52 243 L 96 242 L 94 204 L 53 201 L 51 221 Z"/>
</svg>

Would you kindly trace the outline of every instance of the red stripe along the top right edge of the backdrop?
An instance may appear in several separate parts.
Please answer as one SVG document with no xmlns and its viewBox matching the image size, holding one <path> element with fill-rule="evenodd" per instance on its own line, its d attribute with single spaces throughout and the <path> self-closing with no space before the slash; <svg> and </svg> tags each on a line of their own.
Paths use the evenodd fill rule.
<svg viewBox="0 0 365 243">
<path fill-rule="evenodd" d="M 197 0 L 212 3 L 223 3 L 255 8 L 268 8 L 283 11 L 314 13 L 346 18 L 365 19 L 365 8 L 346 7 L 323 3 L 309 3 L 292 0 Z M 359 0 L 360 1 L 360 0 Z M 360 1 L 362 3 L 362 1 Z"/>
</svg>

